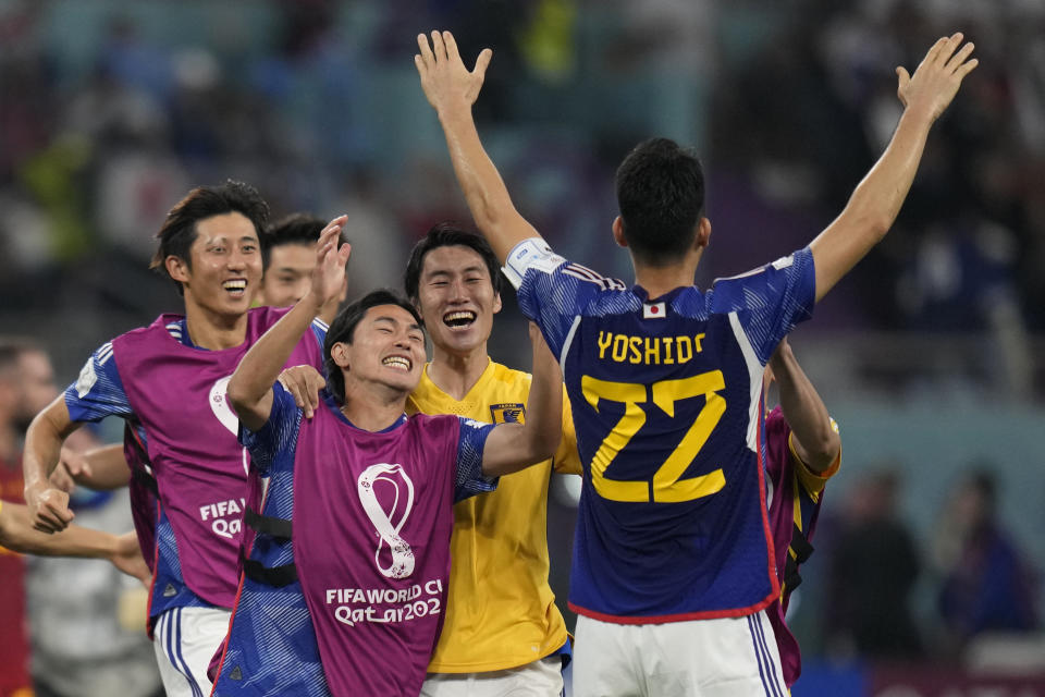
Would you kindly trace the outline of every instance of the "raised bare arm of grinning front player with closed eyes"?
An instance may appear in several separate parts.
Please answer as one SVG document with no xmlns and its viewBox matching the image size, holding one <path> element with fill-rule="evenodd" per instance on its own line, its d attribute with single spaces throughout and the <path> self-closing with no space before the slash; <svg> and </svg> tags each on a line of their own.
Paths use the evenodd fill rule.
<svg viewBox="0 0 1045 697">
<path fill-rule="evenodd" d="M 317 262 L 309 292 L 250 347 L 229 380 L 229 403 L 239 421 L 253 431 L 269 420 L 272 386 L 294 346 L 327 301 L 341 292 L 351 246 L 343 244 L 339 247 L 337 242 L 347 220 L 346 216 L 341 216 L 323 229 L 316 244 Z M 303 404 L 298 406 L 304 407 Z"/>
</svg>

